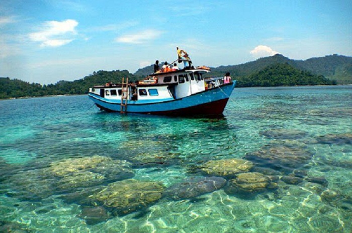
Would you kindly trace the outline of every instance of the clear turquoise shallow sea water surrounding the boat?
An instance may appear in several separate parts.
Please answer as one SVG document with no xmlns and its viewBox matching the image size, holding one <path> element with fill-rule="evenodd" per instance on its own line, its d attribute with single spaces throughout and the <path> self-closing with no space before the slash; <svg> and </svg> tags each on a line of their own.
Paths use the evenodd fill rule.
<svg viewBox="0 0 352 233">
<path fill-rule="evenodd" d="M 235 89 L 221 119 L 122 116 L 92 104 L 0 101 L 0 232 L 352 231 L 351 86 Z M 231 192 L 237 175 L 224 176 L 225 187 L 174 198 L 174 185 L 212 177 L 207 162 L 228 159 L 250 161 L 246 172 L 277 186 Z M 124 198 L 115 207 L 101 199 L 128 179 L 161 183 L 134 187 L 137 204 L 126 209 L 116 207 Z"/>
</svg>

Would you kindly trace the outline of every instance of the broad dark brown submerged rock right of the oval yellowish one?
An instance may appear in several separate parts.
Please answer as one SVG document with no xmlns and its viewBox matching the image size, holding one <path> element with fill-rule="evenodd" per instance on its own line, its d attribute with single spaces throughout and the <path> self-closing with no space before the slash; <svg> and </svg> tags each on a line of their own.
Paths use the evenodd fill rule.
<svg viewBox="0 0 352 233">
<path fill-rule="evenodd" d="M 292 172 L 307 164 L 312 156 L 312 152 L 300 147 L 266 145 L 258 151 L 246 153 L 245 158 L 262 167 Z"/>
</svg>

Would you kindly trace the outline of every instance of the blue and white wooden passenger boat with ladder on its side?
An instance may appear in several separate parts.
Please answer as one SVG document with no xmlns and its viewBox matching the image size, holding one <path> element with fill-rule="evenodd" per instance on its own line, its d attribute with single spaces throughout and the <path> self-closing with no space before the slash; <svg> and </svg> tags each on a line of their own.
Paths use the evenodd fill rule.
<svg viewBox="0 0 352 233">
<path fill-rule="evenodd" d="M 205 79 L 206 66 L 155 72 L 144 80 L 108 83 L 89 89 L 89 98 L 107 112 L 168 116 L 222 115 L 236 81 L 223 84 L 220 77 Z"/>
</svg>

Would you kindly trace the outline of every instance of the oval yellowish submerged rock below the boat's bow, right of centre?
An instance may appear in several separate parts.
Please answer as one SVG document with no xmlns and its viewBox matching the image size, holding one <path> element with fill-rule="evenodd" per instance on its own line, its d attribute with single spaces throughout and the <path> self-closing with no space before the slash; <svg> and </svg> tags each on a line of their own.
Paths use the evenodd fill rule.
<svg viewBox="0 0 352 233">
<path fill-rule="evenodd" d="M 201 166 L 201 170 L 211 176 L 232 178 L 238 173 L 248 172 L 253 163 L 242 159 L 211 160 Z"/>
</svg>

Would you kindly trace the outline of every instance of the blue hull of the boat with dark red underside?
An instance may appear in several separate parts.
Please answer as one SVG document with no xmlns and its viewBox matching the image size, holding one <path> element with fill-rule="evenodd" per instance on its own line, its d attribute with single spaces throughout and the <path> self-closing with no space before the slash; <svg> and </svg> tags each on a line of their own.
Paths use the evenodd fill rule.
<svg viewBox="0 0 352 233">
<path fill-rule="evenodd" d="M 188 97 L 160 102 L 128 101 L 126 112 L 173 116 L 221 115 L 235 85 L 236 81 Z M 89 98 L 103 110 L 120 112 L 121 102 L 119 100 L 109 100 L 93 93 L 89 93 Z"/>
</svg>

